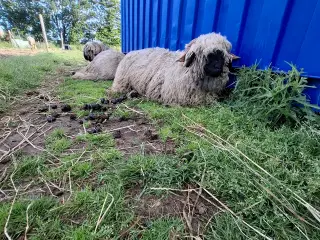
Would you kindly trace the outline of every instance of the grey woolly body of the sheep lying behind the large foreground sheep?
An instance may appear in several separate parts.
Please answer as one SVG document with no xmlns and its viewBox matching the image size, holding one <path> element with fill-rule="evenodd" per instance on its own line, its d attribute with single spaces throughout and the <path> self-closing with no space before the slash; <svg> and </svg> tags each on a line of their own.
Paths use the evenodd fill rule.
<svg viewBox="0 0 320 240">
<path fill-rule="evenodd" d="M 123 53 L 113 49 L 103 51 L 88 66 L 76 72 L 72 78 L 82 80 L 112 80 L 123 57 Z"/>
</svg>

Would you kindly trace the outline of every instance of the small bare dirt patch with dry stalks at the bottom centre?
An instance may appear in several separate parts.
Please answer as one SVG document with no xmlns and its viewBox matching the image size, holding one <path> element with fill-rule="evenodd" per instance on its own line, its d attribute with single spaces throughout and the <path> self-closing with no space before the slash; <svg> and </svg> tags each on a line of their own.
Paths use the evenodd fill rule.
<svg viewBox="0 0 320 240">
<path fill-rule="evenodd" d="M 199 188 L 167 190 L 169 194 L 161 197 L 144 195 L 139 187 L 128 190 L 127 204 L 133 208 L 139 224 L 147 227 L 153 219 L 178 217 L 191 235 L 202 236 L 213 216 L 220 212 L 219 203 Z"/>
</svg>

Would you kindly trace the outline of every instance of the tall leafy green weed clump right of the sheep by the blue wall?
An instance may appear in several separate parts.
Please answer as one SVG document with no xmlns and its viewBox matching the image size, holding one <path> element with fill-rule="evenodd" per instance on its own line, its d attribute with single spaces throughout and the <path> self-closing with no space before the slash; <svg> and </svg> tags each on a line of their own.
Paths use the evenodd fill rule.
<svg viewBox="0 0 320 240">
<path fill-rule="evenodd" d="M 294 66 L 285 72 L 275 73 L 269 68 L 264 71 L 242 68 L 231 97 L 234 109 L 241 109 L 267 125 L 278 127 L 283 124 L 296 126 L 304 121 L 316 121 L 312 108 L 304 94 L 307 79 Z"/>
</svg>

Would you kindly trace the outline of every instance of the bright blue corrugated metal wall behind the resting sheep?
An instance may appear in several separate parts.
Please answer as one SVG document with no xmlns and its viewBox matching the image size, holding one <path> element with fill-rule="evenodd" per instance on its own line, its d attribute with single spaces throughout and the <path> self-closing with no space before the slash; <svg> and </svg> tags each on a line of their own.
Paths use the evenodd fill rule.
<svg viewBox="0 0 320 240">
<path fill-rule="evenodd" d="M 303 68 L 320 105 L 320 0 L 121 0 L 122 51 L 182 50 L 201 34 L 220 32 L 241 57 L 234 66 Z"/>
</svg>

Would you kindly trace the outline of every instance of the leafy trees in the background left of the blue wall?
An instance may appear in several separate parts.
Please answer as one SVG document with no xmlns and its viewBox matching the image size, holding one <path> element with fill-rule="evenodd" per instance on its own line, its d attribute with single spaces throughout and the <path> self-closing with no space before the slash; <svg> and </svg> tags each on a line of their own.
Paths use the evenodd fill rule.
<svg viewBox="0 0 320 240">
<path fill-rule="evenodd" d="M 119 5 L 119 0 L 0 0 L 0 25 L 41 40 L 41 13 L 49 39 L 62 33 L 65 43 L 97 38 L 115 46 L 120 44 Z"/>
</svg>

